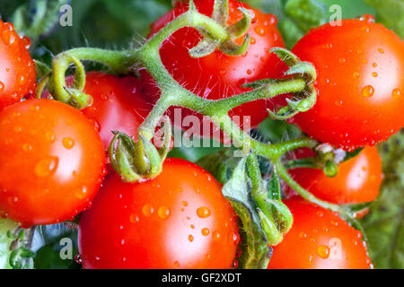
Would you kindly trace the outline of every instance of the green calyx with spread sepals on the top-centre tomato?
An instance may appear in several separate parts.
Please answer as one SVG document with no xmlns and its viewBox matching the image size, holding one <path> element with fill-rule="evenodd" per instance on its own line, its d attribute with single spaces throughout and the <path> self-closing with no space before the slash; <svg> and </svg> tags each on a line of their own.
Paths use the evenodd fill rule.
<svg viewBox="0 0 404 287">
<path fill-rule="evenodd" d="M 193 1 L 189 1 L 189 12 L 196 11 L 197 7 Z M 242 45 L 238 45 L 234 40 L 242 37 L 247 30 L 250 28 L 252 17 L 250 12 L 242 7 L 237 9 L 242 13 L 242 19 L 231 25 L 228 25 L 229 19 L 229 1 L 228 0 L 216 0 L 214 6 L 214 12 L 212 14 L 212 19 L 215 20 L 219 25 L 224 27 L 227 33 L 227 38 L 223 41 L 218 41 L 213 38 L 209 31 L 203 27 L 198 27 L 199 33 L 204 36 L 197 46 L 189 49 L 190 57 L 205 57 L 207 55 L 215 52 L 219 48 L 225 55 L 228 56 L 239 56 L 244 54 L 250 45 L 250 34 L 247 33 L 244 36 Z"/>
</svg>

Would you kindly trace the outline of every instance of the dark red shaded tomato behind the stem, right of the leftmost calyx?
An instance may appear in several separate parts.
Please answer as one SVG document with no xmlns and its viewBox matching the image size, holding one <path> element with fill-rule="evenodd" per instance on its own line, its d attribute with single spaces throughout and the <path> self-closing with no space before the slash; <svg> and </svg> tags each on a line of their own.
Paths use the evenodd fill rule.
<svg viewBox="0 0 404 287">
<path fill-rule="evenodd" d="M 73 83 L 73 79 L 69 77 L 66 83 Z M 93 99 L 92 106 L 83 109 L 83 114 L 99 131 L 105 148 L 110 146 L 112 130 L 136 138 L 137 127 L 153 108 L 141 96 L 140 81 L 132 76 L 87 73 L 83 92 Z"/>
</svg>

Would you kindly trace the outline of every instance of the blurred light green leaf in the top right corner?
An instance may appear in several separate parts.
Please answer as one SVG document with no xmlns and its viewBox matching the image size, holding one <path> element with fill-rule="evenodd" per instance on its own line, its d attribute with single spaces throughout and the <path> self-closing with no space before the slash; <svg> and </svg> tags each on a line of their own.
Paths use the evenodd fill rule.
<svg viewBox="0 0 404 287">
<path fill-rule="evenodd" d="M 404 1 L 402 0 L 364 0 L 376 10 L 376 21 L 394 30 L 404 39 Z"/>
</svg>

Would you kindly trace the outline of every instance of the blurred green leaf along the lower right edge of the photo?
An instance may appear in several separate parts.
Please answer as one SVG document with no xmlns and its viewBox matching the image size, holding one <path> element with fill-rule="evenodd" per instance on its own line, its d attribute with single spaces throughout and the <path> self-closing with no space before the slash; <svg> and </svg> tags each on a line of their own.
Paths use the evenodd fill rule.
<svg viewBox="0 0 404 287">
<path fill-rule="evenodd" d="M 381 196 L 361 220 L 376 268 L 404 268 L 404 131 L 380 146 Z"/>
</svg>

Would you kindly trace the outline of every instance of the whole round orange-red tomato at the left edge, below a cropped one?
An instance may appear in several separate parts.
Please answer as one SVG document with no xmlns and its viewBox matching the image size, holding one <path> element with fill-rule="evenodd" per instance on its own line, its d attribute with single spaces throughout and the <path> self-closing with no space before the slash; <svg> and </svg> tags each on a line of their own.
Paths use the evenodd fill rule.
<svg viewBox="0 0 404 287">
<path fill-rule="evenodd" d="M 100 136 L 57 100 L 0 112 L 0 211 L 24 226 L 62 222 L 91 204 L 104 176 Z"/>
</svg>

